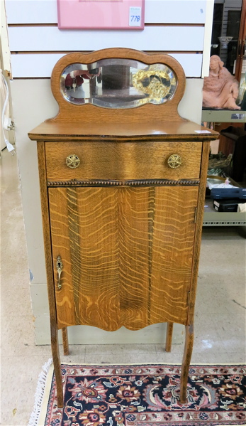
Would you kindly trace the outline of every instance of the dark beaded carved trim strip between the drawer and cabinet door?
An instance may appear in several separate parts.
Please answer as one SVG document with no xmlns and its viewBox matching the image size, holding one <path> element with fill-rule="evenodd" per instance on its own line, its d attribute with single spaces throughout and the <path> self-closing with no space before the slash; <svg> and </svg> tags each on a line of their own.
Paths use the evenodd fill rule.
<svg viewBox="0 0 246 426">
<path fill-rule="evenodd" d="M 106 181 L 95 179 L 94 181 L 79 181 L 72 179 L 70 181 L 47 181 L 47 186 L 199 186 L 200 181 L 169 179 L 147 179 L 138 181 Z"/>
</svg>

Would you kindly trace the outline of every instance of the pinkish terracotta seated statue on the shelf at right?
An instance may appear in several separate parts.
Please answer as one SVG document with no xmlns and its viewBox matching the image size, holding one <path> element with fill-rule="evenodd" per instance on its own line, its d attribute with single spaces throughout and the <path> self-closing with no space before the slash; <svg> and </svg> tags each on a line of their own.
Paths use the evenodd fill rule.
<svg viewBox="0 0 246 426">
<path fill-rule="evenodd" d="M 209 76 L 203 83 L 203 107 L 240 110 L 235 102 L 239 83 L 223 65 L 219 56 L 211 56 Z"/>
</svg>

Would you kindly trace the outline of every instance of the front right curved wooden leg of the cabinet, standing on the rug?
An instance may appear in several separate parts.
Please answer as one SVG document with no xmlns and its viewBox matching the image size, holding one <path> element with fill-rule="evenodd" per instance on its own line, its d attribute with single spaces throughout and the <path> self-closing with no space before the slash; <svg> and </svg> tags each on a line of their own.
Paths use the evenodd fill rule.
<svg viewBox="0 0 246 426">
<path fill-rule="evenodd" d="M 181 383 L 180 383 L 180 402 L 182 404 L 186 403 L 186 393 L 187 393 L 187 380 L 189 373 L 189 366 L 191 363 L 191 355 L 194 341 L 194 327 L 193 324 L 190 326 L 185 326 L 185 346 L 184 346 L 184 356 L 181 367 Z"/>
</svg>

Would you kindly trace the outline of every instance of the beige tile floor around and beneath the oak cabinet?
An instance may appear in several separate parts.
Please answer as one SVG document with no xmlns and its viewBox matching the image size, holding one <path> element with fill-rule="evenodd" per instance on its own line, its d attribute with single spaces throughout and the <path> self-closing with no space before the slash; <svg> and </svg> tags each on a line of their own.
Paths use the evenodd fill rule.
<svg viewBox="0 0 246 426">
<path fill-rule="evenodd" d="M 245 363 L 245 237 L 205 228 L 191 363 Z M 1 158 L 1 425 L 26 426 L 50 346 L 35 346 L 16 156 Z M 68 362 L 181 363 L 183 345 L 71 346 Z M 62 357 L 64 360 L 65 357 Z"/>
</svg>

